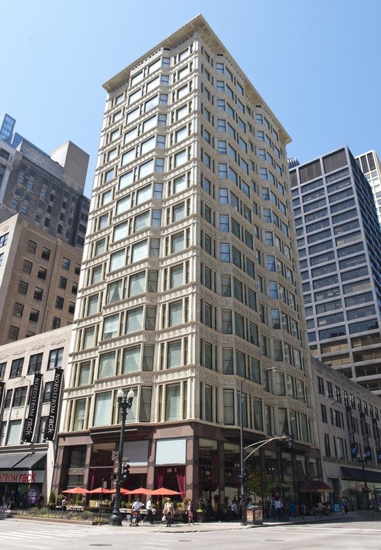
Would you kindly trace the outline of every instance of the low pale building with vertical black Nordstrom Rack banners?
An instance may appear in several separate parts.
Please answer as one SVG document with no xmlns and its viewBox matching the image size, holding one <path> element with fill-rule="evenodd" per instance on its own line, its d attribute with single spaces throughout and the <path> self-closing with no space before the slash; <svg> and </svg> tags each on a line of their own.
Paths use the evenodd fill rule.
<svg viewBox="0 0 381 550">
<path fill-rule="evenodd" d="M 0 498 L 35 505 L 50 492 L 71 326 L 0 346 Z"/>
</svg>

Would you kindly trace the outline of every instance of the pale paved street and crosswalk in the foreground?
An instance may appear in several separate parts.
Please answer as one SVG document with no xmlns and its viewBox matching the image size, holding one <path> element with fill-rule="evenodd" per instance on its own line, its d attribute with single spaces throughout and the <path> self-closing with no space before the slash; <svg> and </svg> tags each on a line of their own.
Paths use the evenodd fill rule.
<svg viewBox="0 0 381 550">
<path fill-rule="evenodd" d="M 58 523 L 3 520 L 0 522 L 0 544 L 7 549 L 55 550 L 110 548 L 125 549 L 136 545 L 139 550 L 152 547 L 178 549 L 184 544 L 201 549 L 218 546 L 219 550 L 232 547 L 257 547 L 273 550 L 379 550 L 380 521 L 330 522 L 305 524 L 273 524 L 242 527 L 240 524 L 210 523 L 194 527 L 174 525 L 141 525 L 139 529 L 110 527 L 108 525 L 60 525 Z"/>
</svg>

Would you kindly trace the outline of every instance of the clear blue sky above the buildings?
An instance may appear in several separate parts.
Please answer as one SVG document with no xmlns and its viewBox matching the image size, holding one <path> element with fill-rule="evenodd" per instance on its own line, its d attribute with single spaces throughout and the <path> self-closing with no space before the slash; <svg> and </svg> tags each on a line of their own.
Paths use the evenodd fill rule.
<svg viewBox="0 0 381 550">
<path fill-rule="evenodd" d="M 381 155 L 380 0 L 0 0 L 0 113 L 47 153 L 91 155 L 102 84 L 203 14 L 292 137 L 300 162 L 348 144 Z"/>
</svg>

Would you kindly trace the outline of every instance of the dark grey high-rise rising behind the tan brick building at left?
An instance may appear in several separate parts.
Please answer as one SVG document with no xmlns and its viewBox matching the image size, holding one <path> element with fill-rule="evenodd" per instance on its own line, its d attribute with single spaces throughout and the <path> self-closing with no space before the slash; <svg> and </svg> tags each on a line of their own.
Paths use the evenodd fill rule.
<svg viewBox="0 0 381 550">
<path fill-rule="evenodd" d="M 5 122 L 0 128 L 5 126 L 9 129 Z M 70 141 L 49 157 L 19 134 L 0 139 L 0 222 L 21 214 L 34 227 L 83 250 L 88 164 L 89 155 Z"/>
</svg>

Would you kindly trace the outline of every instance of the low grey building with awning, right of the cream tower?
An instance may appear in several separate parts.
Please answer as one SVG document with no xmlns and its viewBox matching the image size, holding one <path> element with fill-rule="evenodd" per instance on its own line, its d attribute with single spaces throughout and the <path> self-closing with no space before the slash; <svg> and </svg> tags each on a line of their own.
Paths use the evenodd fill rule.
<svg viewBox="0 0 381 550">
<path fill-rule="evenodd" d="M 312 359 L 323 480 L 332 509 L 372 508 L 381 484 L 380 398 L 321 361 Z"/>
</svg>

